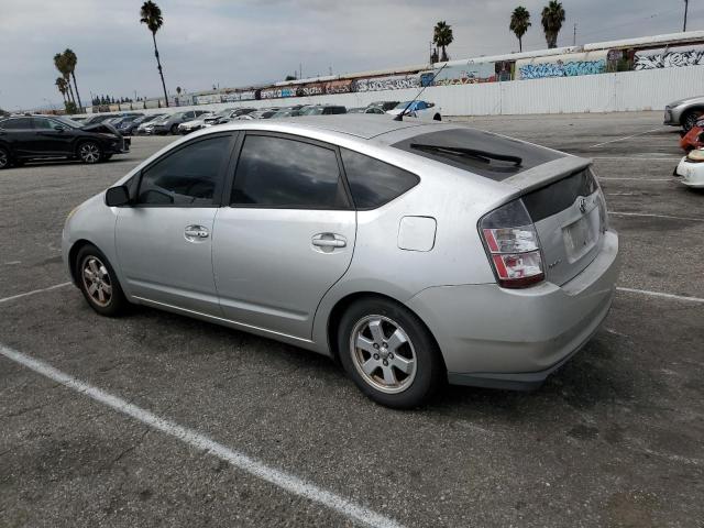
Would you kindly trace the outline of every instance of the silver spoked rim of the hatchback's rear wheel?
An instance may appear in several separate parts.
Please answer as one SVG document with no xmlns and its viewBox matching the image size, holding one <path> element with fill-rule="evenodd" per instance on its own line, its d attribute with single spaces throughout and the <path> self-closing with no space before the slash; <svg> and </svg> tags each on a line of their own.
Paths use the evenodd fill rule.
<svg viewBox="0 0 704 528">
<path fill-rule="evenodd" d="M 410 338 L 388 317 L 360 319 L 350 337 L 350 352 L 362 378 L 382 393 L 402 393 L 416 377 L 418 362 Z"/>
</svg>

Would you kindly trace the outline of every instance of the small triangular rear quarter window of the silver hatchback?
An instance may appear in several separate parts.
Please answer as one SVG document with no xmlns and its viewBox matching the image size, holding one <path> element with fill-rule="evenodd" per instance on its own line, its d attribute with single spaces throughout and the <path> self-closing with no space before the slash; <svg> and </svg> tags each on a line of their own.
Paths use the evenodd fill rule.
<svg viewBox="0 0 704 528">
<path fill-rule="evenodd" d="M 344 173 L 358 209 L 374 209 L 415 187 L 420 179 L 402 168 L 341 148 Z"/>
</svg>

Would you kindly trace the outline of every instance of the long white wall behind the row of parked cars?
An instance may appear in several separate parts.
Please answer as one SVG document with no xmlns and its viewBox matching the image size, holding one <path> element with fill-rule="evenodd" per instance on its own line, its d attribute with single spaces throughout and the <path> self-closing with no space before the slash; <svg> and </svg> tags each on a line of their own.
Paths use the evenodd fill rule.
<svg viewBox="0 0 704 528">
<path fill-rule="evenodd" d="M 380 100 L 413 99 L 417 89 L 340 94 L 150 109 L 163 113 L 191 108 L 218 111 L 233 107 L 282 107 L 336 103 L 348 108 Z M 492 116 L 524 113 L 576 113 L 661 110 L 668 102 L 704 94 L 704 66 L 663 68 L 618 74 L 514 80 L 462 86 L 435 86 L 422 99 L 433 101 L 443 116 Z"/>
</svg>

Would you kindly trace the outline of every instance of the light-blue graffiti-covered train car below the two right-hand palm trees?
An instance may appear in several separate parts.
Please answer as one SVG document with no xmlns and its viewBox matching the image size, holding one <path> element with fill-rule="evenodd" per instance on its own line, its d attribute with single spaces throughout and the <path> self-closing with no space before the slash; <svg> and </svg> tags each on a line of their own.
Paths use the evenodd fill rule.
<svg viewBox="0 0 704 528">
<path fill-rule="evenodd" d="M 606 73 L 607 51 L 572 53 L 516 62 L 517 79 L 575 77 Z"/>
</svg>

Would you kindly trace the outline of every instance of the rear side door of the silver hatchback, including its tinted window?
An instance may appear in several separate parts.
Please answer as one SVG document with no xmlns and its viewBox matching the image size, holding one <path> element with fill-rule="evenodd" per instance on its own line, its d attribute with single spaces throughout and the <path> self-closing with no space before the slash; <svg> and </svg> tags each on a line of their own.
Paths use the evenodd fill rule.
<svg viewBox="0 0 704 528">
<path fill-rule="evenodd" d="M 356 213 L 334 147 L 248 133 L 229 207 L 218 211 L 213 271 L 224 317 L 310 339 L 324 293 L 344 274 Z"/>
</svg>

